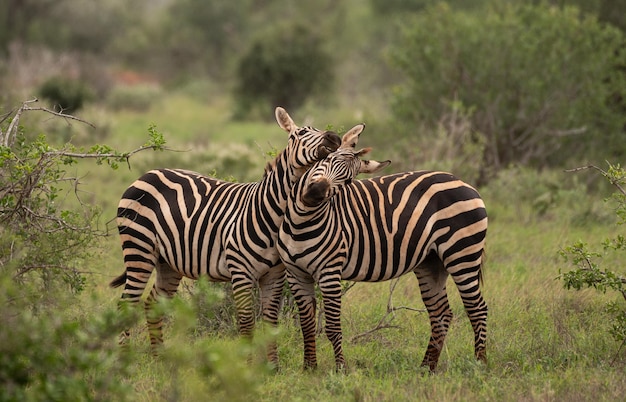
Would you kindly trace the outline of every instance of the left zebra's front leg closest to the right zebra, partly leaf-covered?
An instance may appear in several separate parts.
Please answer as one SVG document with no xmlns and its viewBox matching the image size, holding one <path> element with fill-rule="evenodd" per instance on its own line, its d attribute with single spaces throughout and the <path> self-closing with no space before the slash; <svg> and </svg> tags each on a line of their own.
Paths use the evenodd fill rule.
<svg viewBox="0 0 626 402">
<path fill-rule="evenodd" d="M 285 285 L 285 266 L 281 263 L 270 268 L 269 272 L 259 279 L 261 290 L 261 309 L 263 320 L 272 327 L 278 325 L 278 313 L 283 300 Z M 267 360 L 278 368 L 278 352 L 276 342 L 268 345 Z"/>
</svg>

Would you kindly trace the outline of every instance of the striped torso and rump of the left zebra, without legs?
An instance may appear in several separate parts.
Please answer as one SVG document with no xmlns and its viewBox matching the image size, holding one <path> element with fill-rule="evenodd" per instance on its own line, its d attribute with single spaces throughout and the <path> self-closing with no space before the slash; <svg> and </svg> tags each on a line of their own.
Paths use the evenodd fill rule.
<svg viewBox="0 0 626 402">
<path fill-rule="evenodd" d="M 185 170 L 147 172 L 128 187 L 118 205 L 125 259 L 157 253 L 154 257 L 183 276 L 229 280 L 224 236 L 255 186 Z"/>
</svg>

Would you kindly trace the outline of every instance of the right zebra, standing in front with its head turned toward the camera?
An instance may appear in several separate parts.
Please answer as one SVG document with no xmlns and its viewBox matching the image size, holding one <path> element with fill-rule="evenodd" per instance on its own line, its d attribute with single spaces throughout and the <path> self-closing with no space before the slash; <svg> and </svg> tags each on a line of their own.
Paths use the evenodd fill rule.
<svg viewBox="0 0 626 402">
<path fill-rule="evenodd" d="M 487 304 L 480 292 L 487 213 L 475 189 L 449 173 L 406 172 L 366 180 L 390 162 L 361 160 L 361 130 L 318 162 L 292 188 L 278 251 L 300 311 L 304 367 L 317 366 L 315 293 L 321 291 L 326 335 L 337 369 L 341 347 L 341 280 L 379 282 L 414 272 L 428 310 L 431 337 L 422 366 L 434 371 L 450 326 L 451 275 L 474 329 L 474 350 L 486 362 Z"/>
</svg>

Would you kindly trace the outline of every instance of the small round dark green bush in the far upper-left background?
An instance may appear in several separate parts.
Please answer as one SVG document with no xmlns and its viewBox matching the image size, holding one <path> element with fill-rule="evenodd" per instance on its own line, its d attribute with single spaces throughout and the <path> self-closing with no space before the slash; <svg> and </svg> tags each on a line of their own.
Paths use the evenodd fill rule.
<svg viewBox="0 0 626 402">
<path fill-rule="evenodd" d="M 39 95 L 57 109 L 76 112 L 93 99 L 92 91 L 81 81 L 66 77 L 51 77 L 39 88 Z"/>
</svg>

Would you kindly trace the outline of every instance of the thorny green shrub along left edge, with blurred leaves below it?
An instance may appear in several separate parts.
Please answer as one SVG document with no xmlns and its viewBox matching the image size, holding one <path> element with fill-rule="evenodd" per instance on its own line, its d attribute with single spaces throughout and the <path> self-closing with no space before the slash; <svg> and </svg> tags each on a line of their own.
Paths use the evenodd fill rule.
<svg viewBox="0 0 626 402">
<path fill-rule="evenodd" d="M 0 124 L 0 399 L 125 399 L 128 389 L 117 376 L 124 376 L 127 363 L 113 335 L 130 317 L 107 311 L 68 320 L 58 311 L 85 289 L 83 267 L 106 234 L 97 229 L 99 209 L 78 197 L 79 180 L 67 169 L 78 158 L 116 168 L 142 149 L 163 149 L 165 140 L 151 127 L 145 146 L 130 152 L 106 145 L 57 149 L 43 135 L 29 139 L 19 124 L 22 113 L 80 119 L 33 108 L 33 102 Z"/>
</svg>

